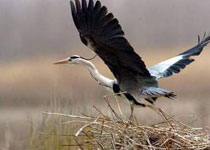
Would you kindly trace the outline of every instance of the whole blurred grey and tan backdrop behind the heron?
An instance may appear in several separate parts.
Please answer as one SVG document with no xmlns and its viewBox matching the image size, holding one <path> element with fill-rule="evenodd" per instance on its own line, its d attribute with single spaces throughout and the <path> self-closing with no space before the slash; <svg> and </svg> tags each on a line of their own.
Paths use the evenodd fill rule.
<svg viewBox="0 0 210 150">
<path fill-rule="evenodd" d="M 209 0 L 101 2 L 119 19 L 126 38 L 147 66 L 193 47 L 198 34 L 210 32 Z M 103 106 L 103 96 L 110 93 L 87 69 L 52 64 L 74 54 L 93 56 L 80 41 L 68 0 L 0 0 L 0 133 L 9 130 L 12 137 L 26 139 L 27 134 L 22 134 L 29 127 L 26 120 L 39 116 L 55 99 L 68 101 L 70 109 Z M 210 45 L 179 75 L 161 80 L 161 87 L 178 97 L 161 99 L 158 105 L 171 114 L 200 117 L 199 126 L 209 125 L 209 57 Z M 99 58 L 93 63 L 112 77 Z M 127 102 L 122 101 L 122 107 L 129 111 Z M 138 111 L 146 116 L 147 110 Z M 5 139 L 0 138 L 0 147 Z"/>
</svg>

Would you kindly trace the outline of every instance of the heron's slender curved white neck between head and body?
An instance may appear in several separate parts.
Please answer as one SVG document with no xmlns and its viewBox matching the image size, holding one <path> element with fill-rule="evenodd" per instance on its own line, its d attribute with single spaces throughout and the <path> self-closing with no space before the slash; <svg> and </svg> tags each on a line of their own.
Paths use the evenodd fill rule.
<svg viewBox="0 0 210 150">
<path fill-rule="evenodd" d="M 107 78 L 99 73 L 99 71 L 96 69 L 95 65 L 87 60 L 81 60 L 80 64 L 83 66 L 87 66 L 91 76 L 100 84 L 103 86 L 106 86 L 108 88 L 113 88 L 114 80 Z"/>
</svg>

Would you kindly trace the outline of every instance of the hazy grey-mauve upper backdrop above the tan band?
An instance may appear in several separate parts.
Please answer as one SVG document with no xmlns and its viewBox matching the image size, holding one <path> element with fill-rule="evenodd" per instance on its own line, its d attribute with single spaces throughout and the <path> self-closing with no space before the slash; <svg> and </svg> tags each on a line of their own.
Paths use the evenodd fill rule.
<svg viewBox="0 0 210 150">
<path fill-rule="evenodd" d="M 102 0 L 136 50 L 175 51 L 209 31 L 208 0 Z M 8 63 L 83 50 L 68 0 L 1 0 L 0 61 Z M 141 51 L 140 51 L 141 50 Z"/>
</svg>

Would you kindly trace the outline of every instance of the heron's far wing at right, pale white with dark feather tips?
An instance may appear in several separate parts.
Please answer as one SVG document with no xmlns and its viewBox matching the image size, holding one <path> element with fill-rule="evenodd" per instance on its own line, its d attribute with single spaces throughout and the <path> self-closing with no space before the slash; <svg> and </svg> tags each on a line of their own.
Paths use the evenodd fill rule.
<svg viewBox="0 0 210 150">
<path fill-rule="evenodd" d="M 203 48 L 210 42 L 210 34 L 206 36 L 204 34 L 203 39 L 200 40 L 200 36 L 198 36 L 198 44 L 171 58 L 166 61 L 160 62 L 152 67 L 149 68 L 149 72 L 152 76 L 156 77 L 157 79 L 163 77 L 172 76 L 173 73 L 179 73 L 182 69 L 184 69 L 187 65 L 194 61 L 191 56 L 200 55 Z"/>
</svg>

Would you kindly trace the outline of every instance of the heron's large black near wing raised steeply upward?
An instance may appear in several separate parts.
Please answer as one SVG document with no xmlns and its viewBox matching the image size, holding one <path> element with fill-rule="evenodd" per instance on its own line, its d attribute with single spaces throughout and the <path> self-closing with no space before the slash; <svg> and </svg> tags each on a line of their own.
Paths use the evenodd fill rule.
<svg viewBox="0 0 210 150">
<path fill-rule="evenodd" d="M 81 41 L 101 57 L 118 81 L 125 76 L 151 77 L 141 57 L 125 39 L 118 20 L 105 6 L 93 0 L 70 1 L 70 5 Z"/>
</svg>

